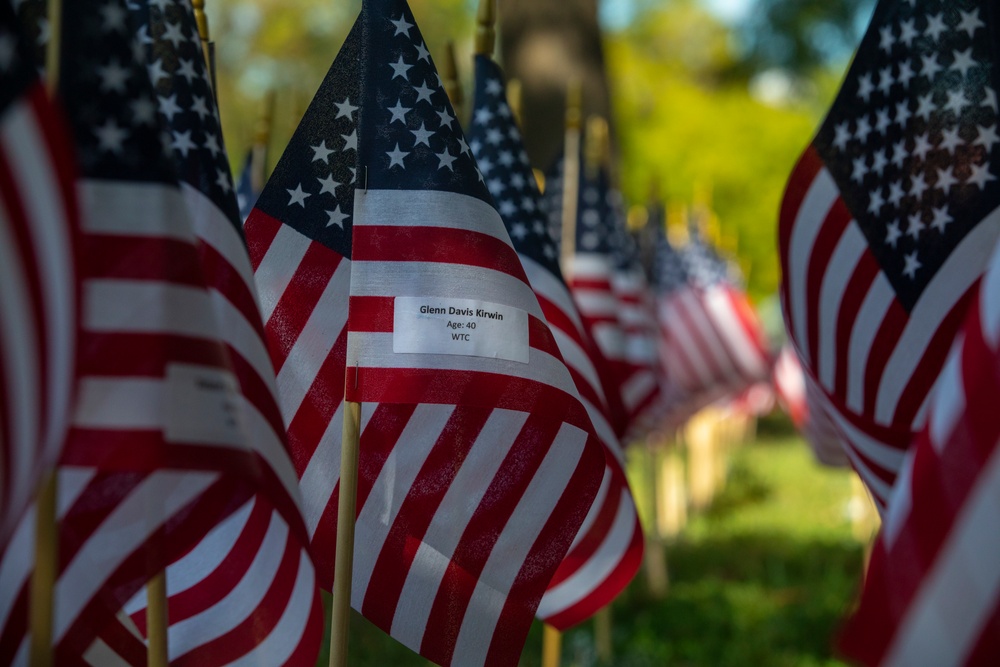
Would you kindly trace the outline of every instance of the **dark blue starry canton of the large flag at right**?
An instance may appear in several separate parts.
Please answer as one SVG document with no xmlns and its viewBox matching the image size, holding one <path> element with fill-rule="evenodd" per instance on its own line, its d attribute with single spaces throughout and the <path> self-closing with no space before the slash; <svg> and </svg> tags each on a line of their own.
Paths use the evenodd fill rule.
<svg viewBox="0 0 1000 667">
<path fill-rule="evenodd" d="M 1000 204 L 997 16 L 976 0 L 880 3 L 814 141 L 908 311 Z"/>
</svg>

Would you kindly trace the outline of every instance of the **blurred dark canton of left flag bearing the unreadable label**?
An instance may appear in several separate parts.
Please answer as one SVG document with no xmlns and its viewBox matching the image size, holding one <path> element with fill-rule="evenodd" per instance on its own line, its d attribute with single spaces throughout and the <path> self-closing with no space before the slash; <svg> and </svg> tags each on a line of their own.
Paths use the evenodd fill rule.
<svg viewBox="0 0 1000 667">
<path fill-rule="evenodd" d="M 84 178 L 176 183 L 146 54 L 124 3 L 65 3 L 59 94 Z"/>
</svg>

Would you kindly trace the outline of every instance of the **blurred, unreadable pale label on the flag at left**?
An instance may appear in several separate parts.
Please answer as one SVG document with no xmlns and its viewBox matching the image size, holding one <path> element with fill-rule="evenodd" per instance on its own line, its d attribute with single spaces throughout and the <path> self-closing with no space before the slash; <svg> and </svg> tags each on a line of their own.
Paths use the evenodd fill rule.
<svg viewBox="0 0 1000 667">
<path fill-rule="evenodd" d="M 206 366 L 167 366 L 168 441 L 238 444 L 240 401 L 231 373 Z"/>
</svg>

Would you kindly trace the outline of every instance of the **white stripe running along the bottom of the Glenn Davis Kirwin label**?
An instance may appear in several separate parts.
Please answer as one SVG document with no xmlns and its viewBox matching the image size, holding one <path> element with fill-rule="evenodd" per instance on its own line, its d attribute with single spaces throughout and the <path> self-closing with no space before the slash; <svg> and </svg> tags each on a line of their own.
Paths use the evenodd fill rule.
<svg viewBox="0 0 1000 667">
<path fill-rule="evenodd" d="M 497 373 L 540 382 L 576 396 L 576 386 L 562 360 L 528 348 L 528 363 L 456 354 L 396 354 L 391 333 L 352 331 L 347 334 L 347 365 L 361 368 L 396 368 Z"/>
</svg>

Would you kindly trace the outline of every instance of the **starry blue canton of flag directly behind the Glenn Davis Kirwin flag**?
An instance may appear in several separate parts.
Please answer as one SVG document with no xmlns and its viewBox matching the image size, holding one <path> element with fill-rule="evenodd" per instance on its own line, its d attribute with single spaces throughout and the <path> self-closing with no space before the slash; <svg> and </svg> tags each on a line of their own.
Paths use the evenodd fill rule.
<svg viewBox="0 0 1000 667">
<path fill-rule="evenodd" d="M 542 210 L 541 195 L 507 104 L 503 73 L 492 59 L 476 56 L 469 146 L 496 200 L 514 250 L 562 280 L 557 238 Z M 558 232 L 558 228 L 555 229 Z"/>
</svg>

